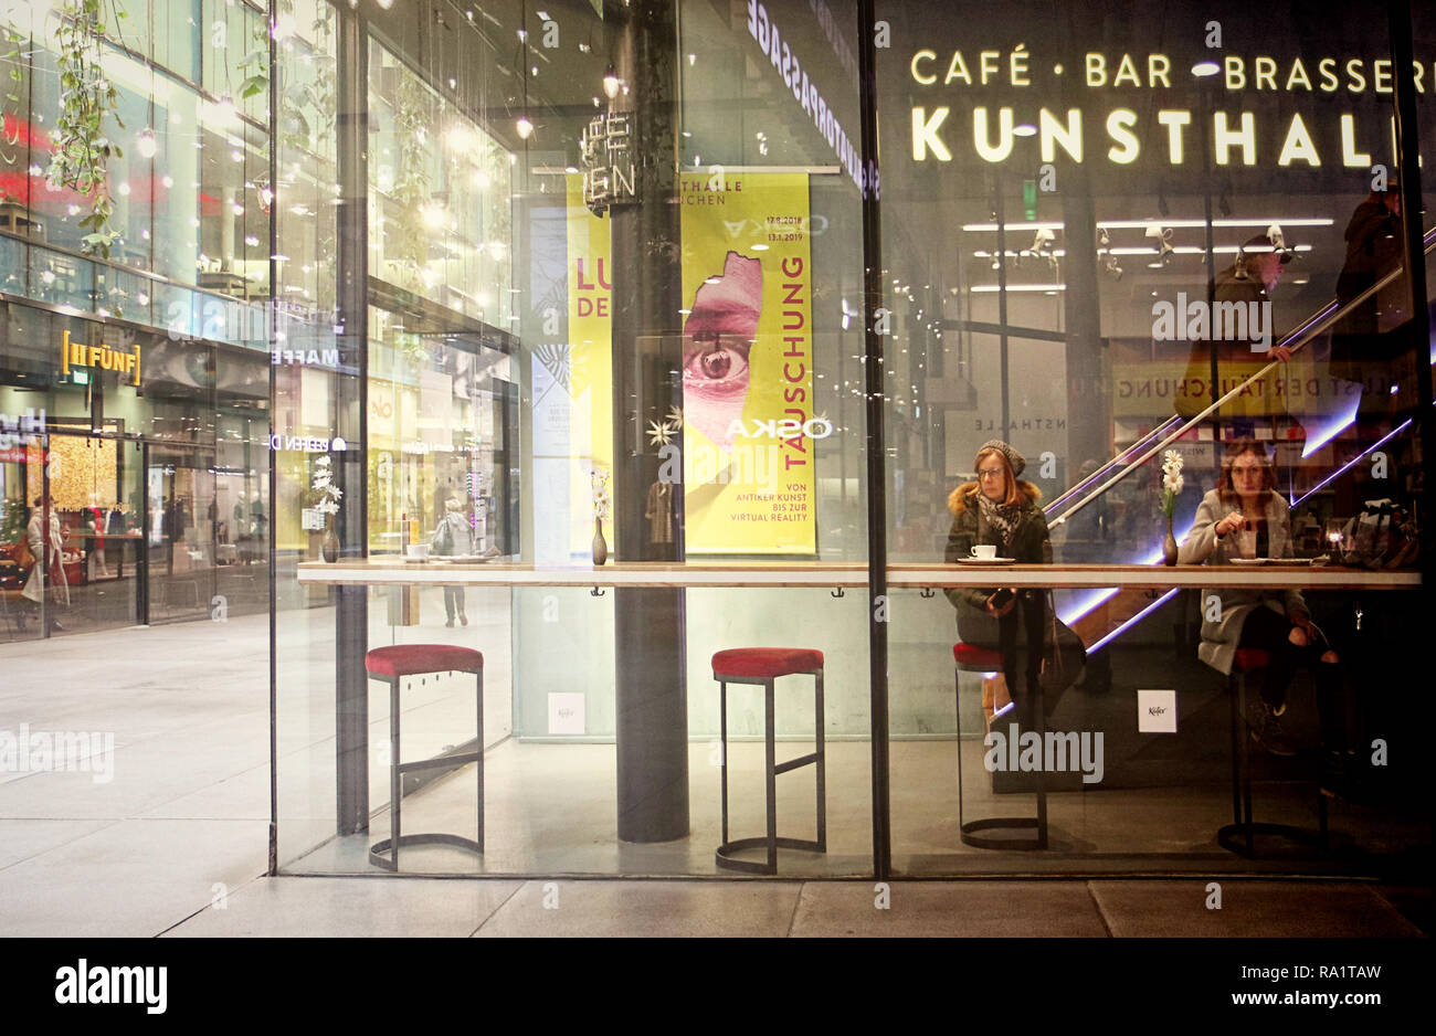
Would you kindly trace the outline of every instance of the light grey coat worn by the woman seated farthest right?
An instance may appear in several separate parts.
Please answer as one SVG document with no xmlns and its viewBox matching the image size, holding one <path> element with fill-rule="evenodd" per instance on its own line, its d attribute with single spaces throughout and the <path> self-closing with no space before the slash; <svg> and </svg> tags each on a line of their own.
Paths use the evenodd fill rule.
<svg viewBox="0 0 1436 1036">
<path fill-rule="evenodd" d="M 1209 491 L 1200 507 L 1196 508 L 1196 524 L 1186 534 L 1182 547 L 1178 548 L 1176 560 L 1183 565 L 1196 565 L 1203 561 L 1209 565 L 1229 565 L 1234 557 L 1239 557 L 1236 537 L 1226 535 L 1218 538 L 1216 522 L 1226 517 L 1232 508 L 1222 504 L 1216 489 Z M 1288 524 L 1287 501 L 1281 494 L 1274 492 L 1267 501 L 1267 535 L 1268 550 L 1272 557 L 1291 557 L 1291 527 Z M 1206 621 L 1206 594 L 1202 603 L 1202 644 L 1196 649 L 1196 656 L 1212 669 L 1223 674 L 1232 672 L 1232 661 L 1236 659 L 1236 644 L 1242 639 L 1242 624 L 1252 610 L 1267 607 L 1284 616 L 1305 616 L 1307 601 L 1300 590 L 1222 590 L 1218 593 L 1222 600 L 1221 621 Z"/>
</svg>

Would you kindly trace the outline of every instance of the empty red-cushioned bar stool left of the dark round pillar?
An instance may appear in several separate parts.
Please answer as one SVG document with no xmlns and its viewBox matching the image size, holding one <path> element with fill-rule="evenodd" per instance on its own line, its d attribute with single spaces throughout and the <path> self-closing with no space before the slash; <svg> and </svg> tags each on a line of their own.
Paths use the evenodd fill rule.
<svg viewBox="0 0 1436 1036">
<path fill-rule="evenodd" d="M 395 644 L 376 647 L 363 659 L 369 679 L 389 684 L 389 837 L 369 848 L 369 862 L 386 871 L 399 870 L 401 845 L 457 845 L 484 852 L 484 656 L 468 647 L 449 644 Z M 441 755 L 415 762 L 399 762 L 399 683 L 404 677 L 428 673 L 474 673 L 478 677 L 478 749 Z M 475 763 L 478 776 L 478 841 L 445 834 L 401 834 L 404 775 L 418 769 L 438 769 Z M 388 852 L 389 855 L 383 855 Z"/>
</svg>

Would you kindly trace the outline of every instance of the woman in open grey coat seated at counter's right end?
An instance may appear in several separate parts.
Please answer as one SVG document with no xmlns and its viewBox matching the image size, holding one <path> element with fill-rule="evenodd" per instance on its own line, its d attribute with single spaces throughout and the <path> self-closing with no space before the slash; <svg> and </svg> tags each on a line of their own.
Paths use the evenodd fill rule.
<svg viewBox="0 0 1436 1036">
<path fill-rule="evenodd" d="M 1202 498 L 1196 524 L 1178 551 L 1180 564 L 1231 564 L 1234 558 L 1291 557 L 1287 502 L 1274 492 L 1277 474 L 1265 451 L 1252 439 L 1239 439 L 1222 458 L 1216 488 Z M 1317 709 L 1321 739 L 1327 749 L 1327 772 L 1340 766 L 1346 749 L 1341 703 L 1341 674 L 1337 654 L 1311 621 L 1300 590 L 1223 590 L 1221 610 L 1202 623 L 1198 657 L 1221 673 L 1231 673 L 1238 647 L 1255 647 L 1271 654 L 1261 696 L 1252 703 L 1252 739 L 1272 755 L 1295 755 L 1281 729 L 1287 712 L 1287 687 L 1298 666 L 1308 666 L 1317 679 Z M 1203 607 L 1203 616 L 1208 610 Z"/>
</svg>

